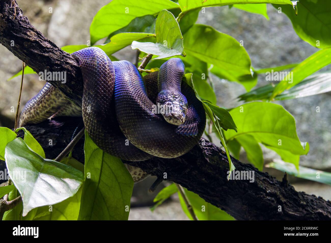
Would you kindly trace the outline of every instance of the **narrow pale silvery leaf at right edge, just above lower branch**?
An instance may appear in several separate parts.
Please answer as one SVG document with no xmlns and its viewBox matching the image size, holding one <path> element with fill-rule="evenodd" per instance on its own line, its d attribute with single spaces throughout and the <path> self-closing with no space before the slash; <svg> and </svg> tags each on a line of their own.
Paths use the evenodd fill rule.
<svg viewBox="0 0 331 243">
<path fill-rule="evenodd" d="M 299 178 L 331 185 L 331 173 L 329 172 L 314 170 L 303 166 L 299 166 L 298 171 L 293 164 L 284 161 L 274 161 L 266 166 Z"/>
</svg>

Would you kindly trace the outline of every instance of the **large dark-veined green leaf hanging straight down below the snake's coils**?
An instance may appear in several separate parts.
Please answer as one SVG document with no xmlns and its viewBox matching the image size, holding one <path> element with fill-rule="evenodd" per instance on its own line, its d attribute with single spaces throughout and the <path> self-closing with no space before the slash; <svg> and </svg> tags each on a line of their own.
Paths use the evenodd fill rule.
<svg viewBox="0 0 331 243">
<path fill-rule="evenodd" d="M 95 145 L 85 130 L 85 182 L 79 220 L 127 220 L 133 180 L 122 161 Z"/>
</svg>

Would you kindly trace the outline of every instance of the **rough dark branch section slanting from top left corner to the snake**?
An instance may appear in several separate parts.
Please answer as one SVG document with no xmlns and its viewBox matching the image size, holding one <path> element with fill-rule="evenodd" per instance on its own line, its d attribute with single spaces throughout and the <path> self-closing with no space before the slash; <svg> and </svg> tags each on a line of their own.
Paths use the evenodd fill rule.
<svg viewBox="0 0 331 243">
<path fill-rule="evenodd" d="M 65 72 L 66 83 L 48 82 L 81 105 L 83 86 L 77 62 L 33 27 L 16 1 L 0 0 L 0 43 L 37 73 Z"/>
</svg>

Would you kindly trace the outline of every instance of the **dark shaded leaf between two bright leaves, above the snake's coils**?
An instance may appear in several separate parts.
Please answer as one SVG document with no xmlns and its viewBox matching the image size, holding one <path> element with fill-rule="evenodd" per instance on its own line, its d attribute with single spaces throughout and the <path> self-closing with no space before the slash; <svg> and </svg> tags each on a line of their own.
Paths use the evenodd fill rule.
<svg viewBox="0 0 331 243">
<path fill-rule="evenodd" d="M 153 15 L 145 15 L 141 17 L 134 18 L 128 25 L 125 27 L 116 30 L 115 32 L 111 33 L 106 43 L 109 43 L 111 37 L 119 33 L 154 33 L 155 34 L 155 23 L 156 18 Z M 131 44 L 131 43 L 130 43 Z"/>
</svg>

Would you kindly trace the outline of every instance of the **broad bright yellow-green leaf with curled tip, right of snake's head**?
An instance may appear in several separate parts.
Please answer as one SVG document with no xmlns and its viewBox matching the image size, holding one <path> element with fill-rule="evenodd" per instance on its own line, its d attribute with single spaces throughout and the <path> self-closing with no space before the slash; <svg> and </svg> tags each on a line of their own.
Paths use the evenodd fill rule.
<svg viewBox="0 0 331 243">
<path fill-rule="evenodd" d="M 238 133 L 233 130 L 225 131 L 226 140 L 251 135 L 257 142 L 293 154 L 308 153 L 308 143 L 302 146 L 294 117 L 283 106 L 269 102 L 252 102 L 232 109 L 230 114 L 237 125 Z"/>
</svg>

